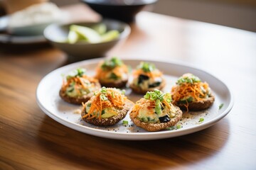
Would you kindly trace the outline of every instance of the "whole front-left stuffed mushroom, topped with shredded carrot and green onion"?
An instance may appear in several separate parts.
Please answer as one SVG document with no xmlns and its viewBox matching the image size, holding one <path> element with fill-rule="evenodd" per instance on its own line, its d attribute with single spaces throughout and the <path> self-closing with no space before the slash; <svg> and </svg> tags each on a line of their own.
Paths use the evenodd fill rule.
<svg viewBox="0 0 256 170">
<path fill-rule="evenodd" d="M 82 120 L 92 125 L 109 126 L 118 123 L 134 105 L 123 91 L 102 87 L 82 108 Z"/>
</svg>

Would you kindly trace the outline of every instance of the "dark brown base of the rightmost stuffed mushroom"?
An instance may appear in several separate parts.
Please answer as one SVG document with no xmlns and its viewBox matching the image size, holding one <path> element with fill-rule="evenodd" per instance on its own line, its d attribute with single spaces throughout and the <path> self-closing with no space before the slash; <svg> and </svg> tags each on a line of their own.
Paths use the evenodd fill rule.
<svg viewBox="0 0 256 170">
<path fill-rule="evenodd" d="M 206 108 L 210 108 L 215 101 L 215 97 L 211 95 L 209 98 L 203 99 L 203 101 L 193 101 L 188 103 L 188 111 L 203 111 Z M 174 103 L 174 105 L 178 106 L 182 110 L 186 110 L 186 106 L 184 104 Z"/>
</svg>

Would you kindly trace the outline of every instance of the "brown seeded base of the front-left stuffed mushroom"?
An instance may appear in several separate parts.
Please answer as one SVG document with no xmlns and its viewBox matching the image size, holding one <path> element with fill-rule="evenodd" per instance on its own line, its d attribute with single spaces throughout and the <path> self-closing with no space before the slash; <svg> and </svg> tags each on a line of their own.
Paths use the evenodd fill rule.
<svg viewBox="0 0 256 170">
<path fill-rule="evenodd" d="M 118 123 L 120 120 L 124 119 L 124 117 L 127 115 L 127 112 L 129 111 L 130 108 L 134 103 L 132 101 L 126 101 L 124 104 L 124 108 L 122 110 L 119 110 L 117 115 L 114 115 L 110 118 L 82 118 L 87 123 L 90 123 L 92 125 L 96 126 L 110 126 Z M 82 110 L 81 116 L 85 115 L 85 110 Z"/>
</svg>

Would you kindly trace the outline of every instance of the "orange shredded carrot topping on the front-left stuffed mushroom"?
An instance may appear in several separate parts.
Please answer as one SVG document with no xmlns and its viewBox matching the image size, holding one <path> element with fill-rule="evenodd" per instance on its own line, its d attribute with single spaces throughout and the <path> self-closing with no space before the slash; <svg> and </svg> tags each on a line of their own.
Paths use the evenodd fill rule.
<svg viewBox="0 0 256 170">
<path fill-rule="evenodd" d="M 91 103 L 90 110 L 88 113 L 82 116 L 82 118 L 102 118 L 102 111 L 105 108 L 117 108 L 122 109 L 124 106 L 125 101 L 127 101 L 127 97 L 122 94 L 121 91 L 114 88 L 106 88 L 107 92 L 104 94 L 107 98 L 107 100 L 102 100 L 100 95 L 102 93 L 98 91 L 95 96 L 90 98 L 87 103 Z M 112 93 L 114 93 L 114 97 L 112 96 Z M 100 106 L 98 106 L 100 104 Z M 86 104 L 83 106 L 83 111 L 85 111 Z M 110 111 L 111 112 L 111 111 Z M 114 111 L 113 111 L 114 112 Z M 114 114 L 117 114 L 114 112 Z"/>
</svg>

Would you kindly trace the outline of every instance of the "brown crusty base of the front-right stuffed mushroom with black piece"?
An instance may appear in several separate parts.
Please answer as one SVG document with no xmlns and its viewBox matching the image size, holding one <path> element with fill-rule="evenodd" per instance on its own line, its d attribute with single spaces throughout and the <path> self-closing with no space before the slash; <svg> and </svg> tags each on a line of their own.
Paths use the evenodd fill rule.
<svg viewBox="0 0 256 170">
<path fill-rule="evenodd" d="M 182 118 L 182 111 L 179 109 L 177 106 L 174 106 L 177 108 L 177 113 L 174 118 L 171 118 L 171 120 L 167 123 L 144 123 L 141 120 L 137 118 L 133 118 L 130 114 L 130 118 L 132 122 L 137 125 L 140 128 L 143 128 L 144 130 L 154 132 L 154 131 L 159 131 L 159 130 L 164 130 L 166 128 L 169 128 L 171 126 L 176 125 L 179 120 Z"/>
</svg>

